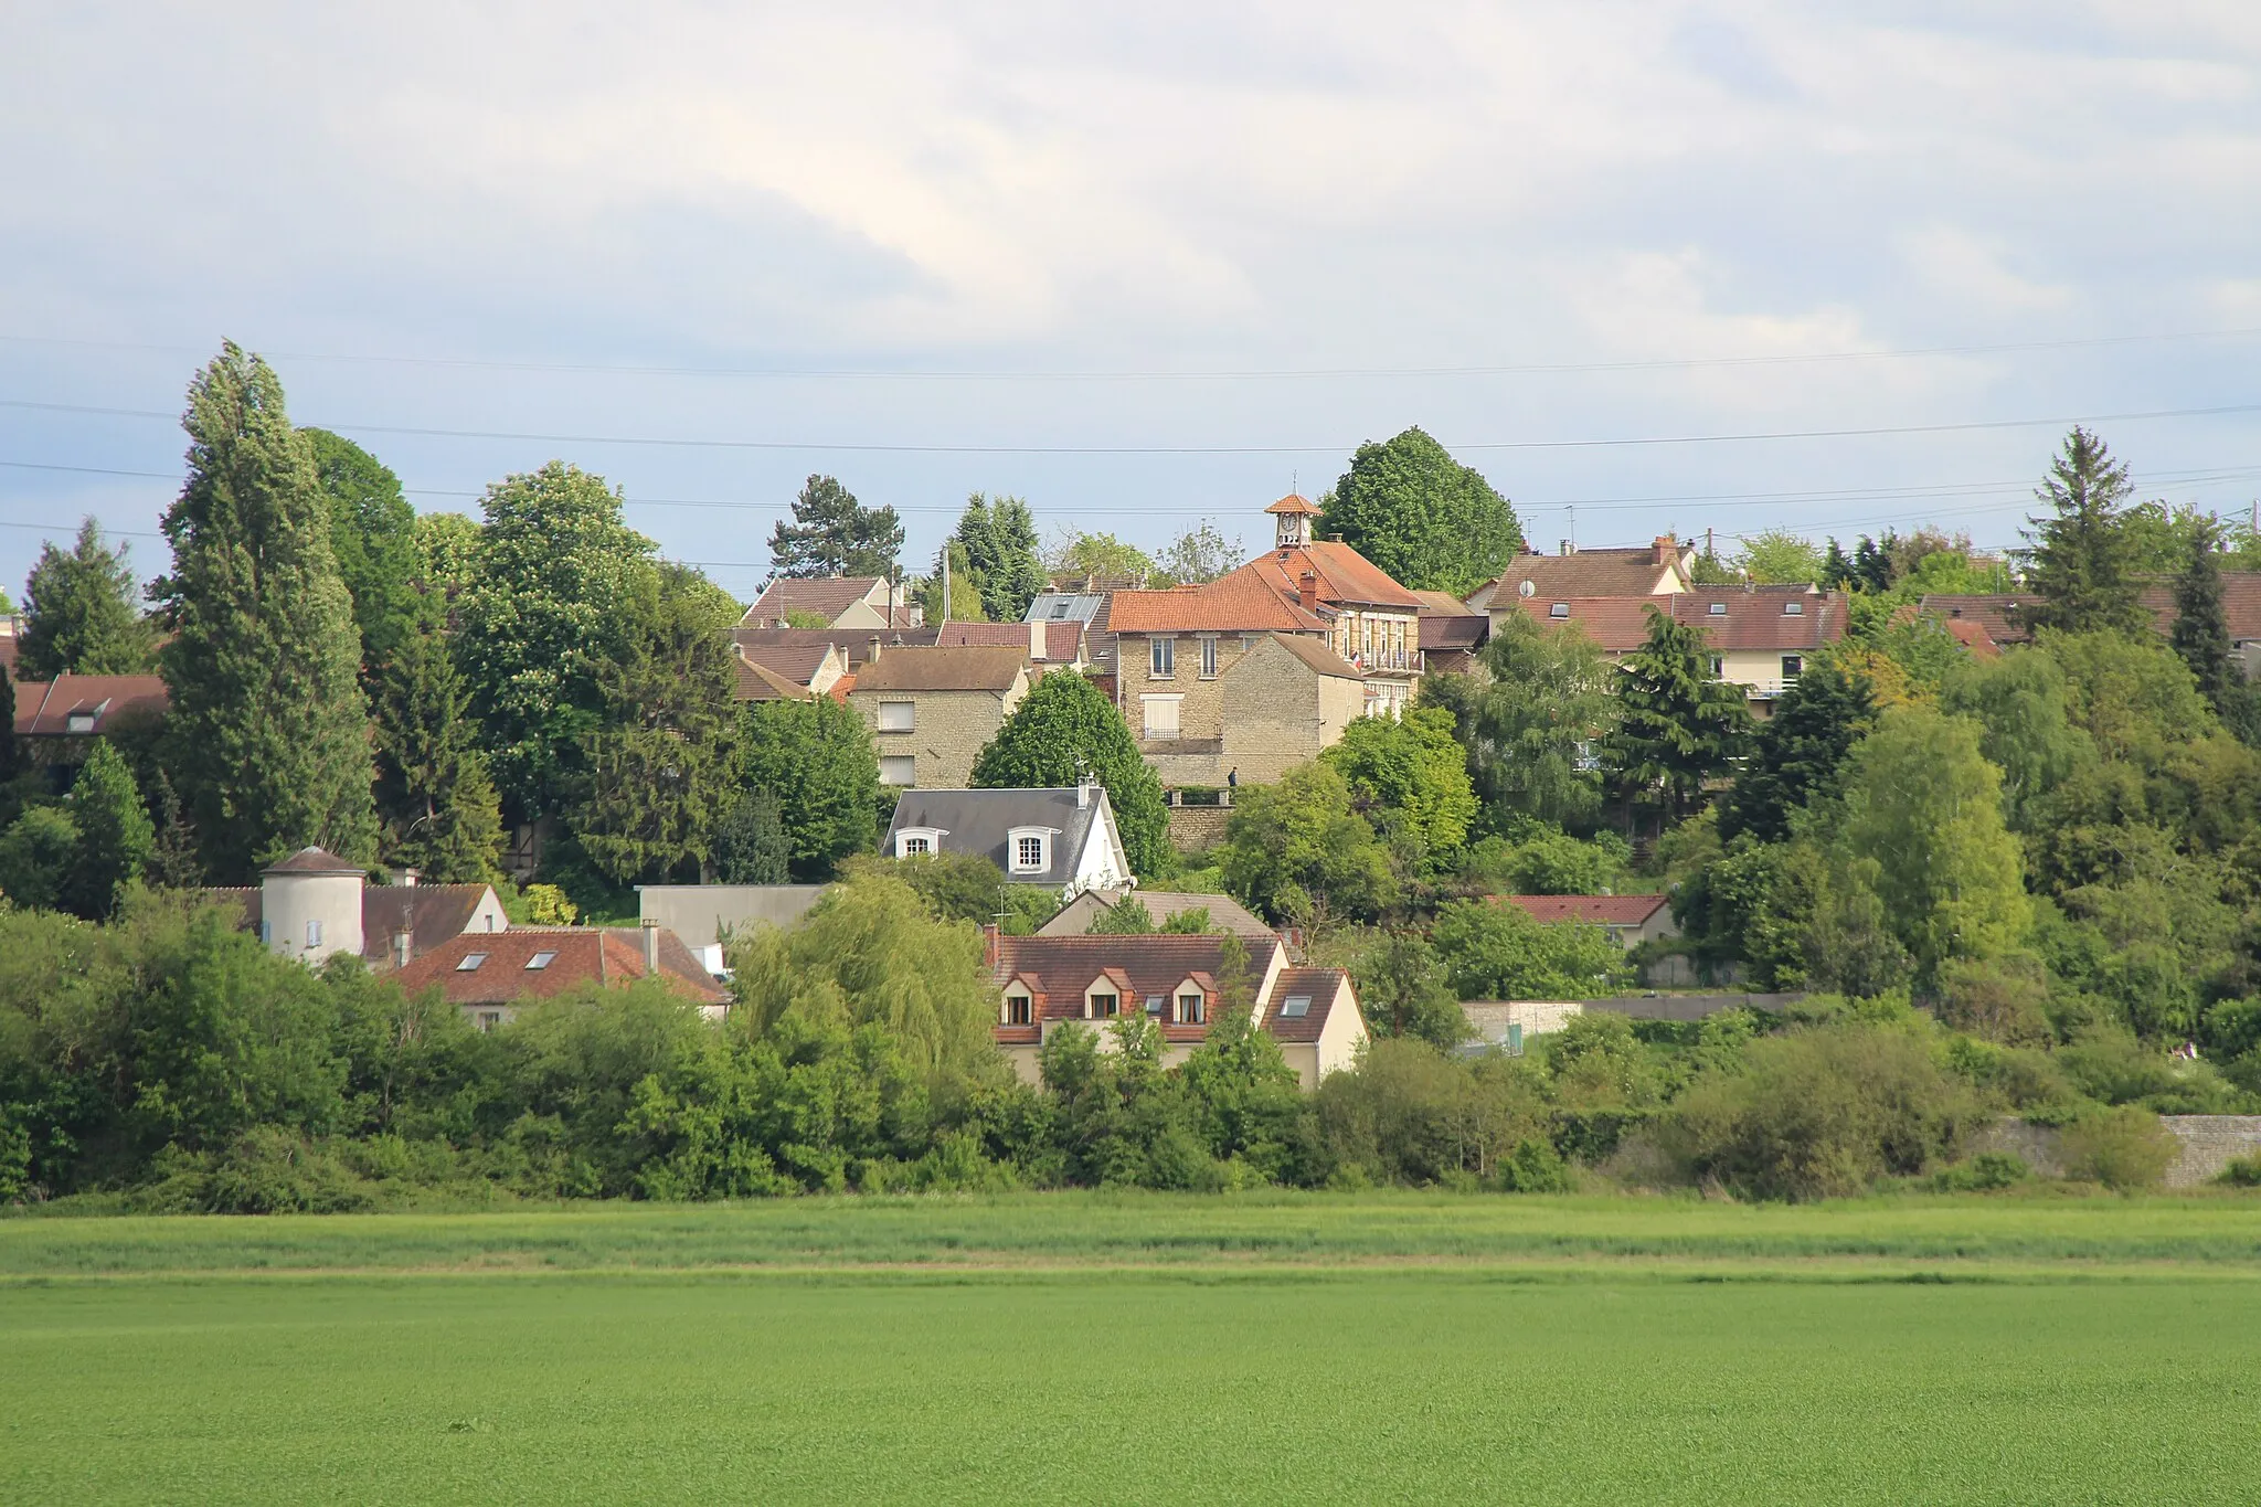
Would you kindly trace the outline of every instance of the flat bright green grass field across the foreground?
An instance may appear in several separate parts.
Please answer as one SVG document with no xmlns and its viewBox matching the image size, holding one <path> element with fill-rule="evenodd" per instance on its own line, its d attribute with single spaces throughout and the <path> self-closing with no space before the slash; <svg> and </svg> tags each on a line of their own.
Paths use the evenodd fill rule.
<svg viewBox="0 0 2261 1507">
<path fill-rule="evenodd" d="M 2252 1502 L 2261 1204 L 0 1220 L 0 1500 Z"/>
</svg>

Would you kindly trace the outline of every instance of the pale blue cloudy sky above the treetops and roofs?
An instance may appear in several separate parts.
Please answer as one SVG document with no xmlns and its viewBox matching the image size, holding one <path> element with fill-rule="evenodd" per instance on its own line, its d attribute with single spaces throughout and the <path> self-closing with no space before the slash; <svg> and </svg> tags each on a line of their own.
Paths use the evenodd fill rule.
<svg viewBox="0 0 2261 1507">
<path fill-rule="evenodd" d="M 1160 547 L 1409 425 L 1544 549 L 2261 497 L 2261 5 L 0 5 L 0 587 L 224 339 L 751 599 L 812 472 Z M 20 592 L 18 592 L 20 594 Z"/>
</svg>

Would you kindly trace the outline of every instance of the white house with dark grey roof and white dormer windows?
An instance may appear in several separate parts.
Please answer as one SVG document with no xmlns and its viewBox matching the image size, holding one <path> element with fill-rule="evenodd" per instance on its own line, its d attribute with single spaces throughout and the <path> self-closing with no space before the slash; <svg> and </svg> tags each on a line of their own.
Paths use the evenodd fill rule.
<svg viewBox="0 0 2261 1507">
<path fill-rule="evenodd" d="M 1006 883 L 1038 886 L 1063 899 L 1137 883 L 1115 807 L 1097 782 L 1058 791 L 904 791 L 880 852 L 889 859 L 974 854 L 995 863 Z"/>
</svg>

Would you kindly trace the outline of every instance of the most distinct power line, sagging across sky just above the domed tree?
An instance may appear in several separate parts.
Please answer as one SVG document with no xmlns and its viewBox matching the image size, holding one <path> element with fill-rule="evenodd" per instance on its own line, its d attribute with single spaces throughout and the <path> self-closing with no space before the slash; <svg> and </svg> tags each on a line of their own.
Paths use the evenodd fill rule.
<svg viewBox="0 0 2261 1507">
<path fill-rule="evenodd" d="M 1180 368 L 1180 371 L 974 371 L 974 368 L 877 368 L 877 366 L 651 366 L 606 361 L 493 361 L 473 357 L 346 355 L 317 350 L 274 350 L 274 361 L 337 361 L 362 366 L 436 366 L 457 371 L 529 371 L 610 377 L 757 377 L 794 382 L 1280 382 L 1314 377 L 1551 377 L 1617 371 L 1691 371 L 1725 366 L 1811 366 L 1843 361 L 1906 361 L 1924 357 L 2019 355 L 2039 350 L 2087 350 L 2107 346 L 2155 346 L 2207 339 L 2245 339 L 2261 328 L 2175 330 L 2159 334 L 2096 334 L 2058 341 L 2003 341 L 1990 346 L 1908 346 L 1899 350 L 1820 350 L 1739 357 L 1657 357 L 1639 361 L 1526 361 L 1490 366 L 1248 366 L 1248 368 Z M 90 341 L 52 334 L 0 334 L 16 346 L 63 346 L 77 350 L 142 350 L 165 355 L 210 355 L 203 346 L 163 346 L 140 341 Z"/>
</svg>

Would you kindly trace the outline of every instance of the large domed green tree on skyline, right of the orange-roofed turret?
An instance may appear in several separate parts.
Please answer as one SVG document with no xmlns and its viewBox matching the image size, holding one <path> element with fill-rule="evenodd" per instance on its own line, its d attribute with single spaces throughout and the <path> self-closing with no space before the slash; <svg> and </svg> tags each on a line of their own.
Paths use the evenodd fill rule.
<svg viewBox="0 0 2261 1507">
<path fill-rule="evenodd" d="M 1359 445 L 1318 526 L 1422 592 L 1476 590 L 1524 547 L 1515 508 L 1420 429 Z"/>
</svg>

